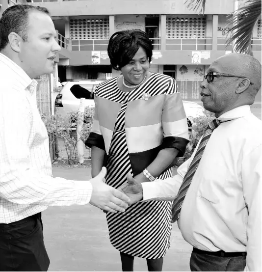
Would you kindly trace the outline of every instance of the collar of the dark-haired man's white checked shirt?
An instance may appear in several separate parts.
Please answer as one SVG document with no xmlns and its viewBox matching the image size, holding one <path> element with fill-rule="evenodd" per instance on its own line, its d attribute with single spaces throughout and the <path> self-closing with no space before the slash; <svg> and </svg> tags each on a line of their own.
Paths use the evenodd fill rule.
<svg viewBox="0 0 262 272">
<path fill-rule="evenodd" d="M 37 85 L 35 80 L 30 79 L 26 72 L 9 57 L 0 53 L 1 63 L 4 64 L 4 68 L 7 68 L 8 71 L 5 72 L 8 73 L 8 77 L 11 77 L 19 87 L 28 90 L 31 94 L 33 93 L 32 87 L 34 86 L 35 89 Z"/>
</svg>

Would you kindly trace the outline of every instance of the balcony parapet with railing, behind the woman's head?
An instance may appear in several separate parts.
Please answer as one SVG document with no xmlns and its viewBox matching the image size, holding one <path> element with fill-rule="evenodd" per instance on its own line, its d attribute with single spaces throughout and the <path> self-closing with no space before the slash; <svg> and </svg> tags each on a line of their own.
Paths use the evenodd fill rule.
<svg viewBox="0 0 262 272">
<path fill-rule="evenodd" d="M 210 63 L 216 58 L 232 51 L 232 45 L 226 47 L 225 38 L 218 38 L 217 45 L 213 44 L 212 38 L 205 39 L 166 39 L 165 44 L 160 44 L 160 38 L 156 38 L 153 44 L 152 64 L 204 64 Z M 70 48 L 72 44 L 72 51 Z M 107 55 L 108 40 L 69 40 L 68 49 L 66 43 L 62 42 L 62 51 L 59 53 L 60 65 L 110 65 Z M 158 48 L 160 50 L 158 50 Z M 162 48 L 162 50 L 161 50 Z M 256 58 L 261 59 L 261 39 L 252 40 L 253 54 Z M 100 52 L 100 61 L 94 63 L 92 61 L 92 52 Z M 67 53 L 67 54 L 65 54 Z M 63 56 L 60 57 L 60 55 Z M 195 54 L 195 55 L 194 55 Z M 199 60 L 194 57 L 199 55 Z M 67 64 L 60 63 L 60 58 L 70 58 Z M 199 62 L 198 62 L 199 61 Z"/>
</svg>

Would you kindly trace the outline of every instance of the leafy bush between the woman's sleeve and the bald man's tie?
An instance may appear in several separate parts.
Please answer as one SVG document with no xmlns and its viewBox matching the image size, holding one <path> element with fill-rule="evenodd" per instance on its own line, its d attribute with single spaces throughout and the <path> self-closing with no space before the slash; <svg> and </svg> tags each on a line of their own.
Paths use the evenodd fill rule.
<svg viewBox="0 0 262 272">
<path fill-rule="evenodd" d="M 184 156 L 178 158 L 175 166 L 178 167 L 186 160 L 188 160 L 193 154 L 198 141 L 204 134 L 209 123 L 214 119 L 214 114 L 208 110 L 204 110 L 204 115 L 190 118 L 192 127 L 189 128 L 189 143 L 186 146 Z"/>
</svg>

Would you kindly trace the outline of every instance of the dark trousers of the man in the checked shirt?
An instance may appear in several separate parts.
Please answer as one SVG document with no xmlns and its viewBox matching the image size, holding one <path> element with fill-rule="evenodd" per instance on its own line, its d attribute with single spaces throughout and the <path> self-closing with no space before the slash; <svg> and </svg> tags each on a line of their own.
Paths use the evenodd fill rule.
<svg viewBox="0 0 262 272">
<path fill-rule="evenodd" d="M 0 224 L 0 271 L 47 271 L 41 213 Z"/>
</svg>

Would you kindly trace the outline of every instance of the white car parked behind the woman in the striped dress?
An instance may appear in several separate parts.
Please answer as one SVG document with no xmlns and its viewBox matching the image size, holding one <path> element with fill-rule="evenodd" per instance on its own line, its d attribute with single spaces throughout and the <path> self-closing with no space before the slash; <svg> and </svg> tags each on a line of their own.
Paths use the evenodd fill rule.
<svg viewBox="0 0 262 272">
<path fill-rule="evenodd" d="M 80 98 L 84 97 L 84 106 L 95 107 L 94 91 L 98 84 L 104 80 L 80 80 L 66 82 L 55 98 L 55 107 L 60 116 L 66 116 L 67 112 L 79 109 Z M 64 82 L 63 82 L 64 83 Z M 188 126 L 191 126 L 190 116 L 203 115 L 203 107 L 195 102 L 183 100 L 183 106 L 187 117 Z"/>
</svg>

